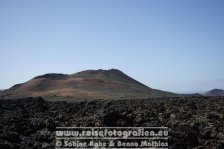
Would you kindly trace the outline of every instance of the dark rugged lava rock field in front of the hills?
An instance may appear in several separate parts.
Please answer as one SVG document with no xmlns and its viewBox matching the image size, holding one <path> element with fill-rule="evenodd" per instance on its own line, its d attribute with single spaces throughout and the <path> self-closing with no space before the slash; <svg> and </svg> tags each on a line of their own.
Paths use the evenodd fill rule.
<svg viewBox="0 0 224 149">
<path fill-rule="evenodd" d="M 55 148 L 64 126 L 166 126 L 169 148 L 224 148 L 224 97 L 50 102 L 0 100 L 0 149 Z"/>
</svg>

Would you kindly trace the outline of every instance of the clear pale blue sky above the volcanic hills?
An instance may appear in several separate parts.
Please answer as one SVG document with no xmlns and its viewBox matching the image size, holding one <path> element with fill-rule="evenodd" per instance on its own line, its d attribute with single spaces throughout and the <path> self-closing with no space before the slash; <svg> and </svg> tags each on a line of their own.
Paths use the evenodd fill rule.
<svg viewBox="0 0 224 149">
<path fill-rule="evenodd" d="M 1 0 L 0 88 L 120 69 L 173 92 L 224 89 L 223 0 Z"/>
</svg>

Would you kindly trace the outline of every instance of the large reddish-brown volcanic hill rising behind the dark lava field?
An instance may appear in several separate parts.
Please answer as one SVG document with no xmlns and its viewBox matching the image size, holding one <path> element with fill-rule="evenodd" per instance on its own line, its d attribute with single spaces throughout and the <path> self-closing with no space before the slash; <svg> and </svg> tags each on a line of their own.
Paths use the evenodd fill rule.
<svg viewBox="0 0 224 149">
<path fill-rule="evenodd" d="M 152 89 L 120 70 L 86 70 L 75 74 L 37 76 L 0 92 L 1 98 L 43 96 L 72 99 L 136 99 L 177 96 Z"/>
</svg>

